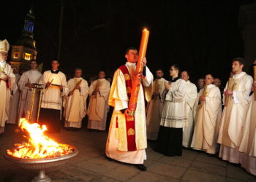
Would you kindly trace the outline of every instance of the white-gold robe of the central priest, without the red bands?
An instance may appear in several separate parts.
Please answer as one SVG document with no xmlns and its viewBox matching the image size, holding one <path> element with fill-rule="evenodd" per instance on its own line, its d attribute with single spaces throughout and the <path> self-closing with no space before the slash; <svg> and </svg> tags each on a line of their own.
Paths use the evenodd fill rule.
<svg viewBox="0 0 256 182">
<path fill-rule="evenodd" d="M 135 71 L 135 63 L 126 63 L 129 69 L 129 74 Z M 146 67 L 146 77 L 142 79 L 142 84 L 145 87 L 151 86 L 153 81 L 153 75 Z M 121 120 L 124 114 L 121 114 L 120 110 L 128 108 L 129 98 L 127 95 L 127 87 L 124 78 L 124 74 L 118 69 L 113 77 L 113 83 L 110 90 L 110 98 L 108 103 L 114 107 L 112 119 L 110 122 L 110 129 L 108 132 L 108 141 L 106 144 L 106 155 L 112 159 L 116 159 L 120 162 L 126 162 L 130 164 L 143 164 L 146 160 L 146 114 L 145 114 L 145 101 L 143 95 L 143 87 L 140 84 L 140 91 L 138 94 L 138 103 L 135 111 L 135 135 L 136 135 L 136 146 L 137 151 L 127 151 L 122 147 L 127 146 L 127 138 L 121 138 L 119 128 L 116 128 L 116 118 L 118 118 L 118 127 L 121 122 L 125 123 L 125 119 Z M 125 125 L 124 125 L 125 126 Z M 139 130 L 140 129 L 140 130 Z M 124 135 L 126 136 L 126 135 Z"/>
</svg>

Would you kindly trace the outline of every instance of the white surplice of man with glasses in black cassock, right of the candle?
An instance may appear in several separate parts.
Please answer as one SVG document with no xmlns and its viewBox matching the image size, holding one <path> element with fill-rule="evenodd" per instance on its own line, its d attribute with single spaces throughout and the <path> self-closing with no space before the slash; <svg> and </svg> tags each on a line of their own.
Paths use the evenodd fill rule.
<svg viewBox="0 0 256 182">
<path fill-rule="evenodd" d="M 187 106 L 185 103 L 186 93 L 187 84 L 183 79 L 172 82 L 170 90 L 164 90 L 162 94 L 166 94 L 166 96 L 161 116 L 161 126 L 174 128 L 188 126 Z"/>
</svg>

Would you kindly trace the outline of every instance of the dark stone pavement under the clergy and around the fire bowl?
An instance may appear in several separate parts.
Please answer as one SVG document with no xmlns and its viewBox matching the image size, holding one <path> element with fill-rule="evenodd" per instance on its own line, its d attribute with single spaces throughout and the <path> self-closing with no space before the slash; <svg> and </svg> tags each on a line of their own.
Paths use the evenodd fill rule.
<svg viewBox="0 0 256 182">
<path fill-rule="evenodd" d="M 182 157 L 165 157 L 146 149 L 148 170 L 141 172 L 132 165 L 109 161 L 105 158 L 107 132 L 80 129 L 52 134 L 59 143 L 77 147 L 79 154 L 65 165 L 47 172 L 52 181 L 256 181 L 239 166 L 231 165 L 217 157 L 208 157 L 200 151 L 184 150 Z M 3 159 L 6 149 L 20 143 L 23 138 L 15 133 L 15 126 L 7 124 L 0 136 L 0 181 L 31 181 L 36 172 L 24 170 Z"/>
</svg>

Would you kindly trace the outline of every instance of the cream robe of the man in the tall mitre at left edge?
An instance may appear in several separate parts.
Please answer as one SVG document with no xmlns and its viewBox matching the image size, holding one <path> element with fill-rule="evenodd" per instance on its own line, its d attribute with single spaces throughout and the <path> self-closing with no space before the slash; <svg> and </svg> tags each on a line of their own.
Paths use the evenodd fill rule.
<svg viewBox="0 0 256 182">
<path fill-rule="evenodd" d="M 15 84 L 15 75 L 12 73 L 12 68 L 4 61 L 0 63 L 0 79 L 4 79 L 6 76 L 7 82 L 0 81 L 0 134 L 4 132 L 5 122 L 9 118 L 10 95 Z"/>
</svg>

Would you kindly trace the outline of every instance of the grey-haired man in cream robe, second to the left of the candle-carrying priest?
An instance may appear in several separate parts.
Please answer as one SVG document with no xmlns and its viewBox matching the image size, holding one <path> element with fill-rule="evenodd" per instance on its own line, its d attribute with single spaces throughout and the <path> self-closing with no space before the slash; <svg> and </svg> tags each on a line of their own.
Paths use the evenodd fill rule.
<svg viewBox="0 0 256 182">
<path fill-rule="evenodd" d="M 88 83 L 82 77 L 82 69 L 75 69 L 75 77 L 69 79 L 69 92 L 64 104 L 64 127 L 81 128 L 82 119 L 86 116 L 86 99 L 89 92 Z"/>
</svg>

